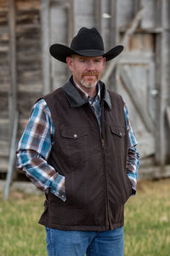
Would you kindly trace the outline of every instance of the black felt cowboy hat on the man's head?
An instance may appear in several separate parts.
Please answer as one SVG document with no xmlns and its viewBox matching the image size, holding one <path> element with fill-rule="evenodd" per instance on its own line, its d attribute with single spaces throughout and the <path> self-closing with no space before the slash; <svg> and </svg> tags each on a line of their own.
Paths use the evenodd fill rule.
<svg viewBox="0 0 170 256">
<path fill-rule="evenodd" d="M 66 63 L 66 57 L 71 55 L 100 56 L 103 55 L 106 61 L 111 61 L 123 50 L 122 45 L 110 49 L 105 53 L 103 39 L 95 27 L 88 29 L 82 27 L 77 36 L 71 41 L 71 47 L 63 44 L 52 44 L 49 48 L 50 54 L 57 60 Z"/>
</svg>

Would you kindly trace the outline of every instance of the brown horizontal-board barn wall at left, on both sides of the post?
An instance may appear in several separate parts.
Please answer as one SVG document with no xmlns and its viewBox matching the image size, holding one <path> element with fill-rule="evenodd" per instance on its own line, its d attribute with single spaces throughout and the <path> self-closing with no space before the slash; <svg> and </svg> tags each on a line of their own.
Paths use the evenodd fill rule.
<svg viewBox="0 0 170 256">
<path fill-rule="evenodd" d="M 7 171 L 10 149 L 10 62 L 15 55 L 17 109 L 21 136 L 37 98 L 42 96 L 42 42 L 40 2 L 16 0 L 14 20 L 9 16 L 9 1 L 0 1 L 0 172 Z M 10 20 L 10 22 L 9 22 Z M 10 27 L 15 26 L 15 49 L 9 49 Z"/>
</svg>

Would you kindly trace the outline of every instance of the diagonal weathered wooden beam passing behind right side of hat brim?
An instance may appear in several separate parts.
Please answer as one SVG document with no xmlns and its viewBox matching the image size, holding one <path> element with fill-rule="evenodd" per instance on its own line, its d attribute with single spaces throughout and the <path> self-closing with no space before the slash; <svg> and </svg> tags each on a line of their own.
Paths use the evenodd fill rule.
<svg viewBox="0 0 170 256">
<path fill-rule="evenodd" d="M 128 26 L 127 32 L 125 32 L 124 37 L 122 38 L 122 41 L 120 44 L 122 44 L 125 48 L 127 47 L 128 41 L 133 35 L 133 32 L 135 32 L 136 28 L 139 26 L 139 21 L 142 19 L 144 12 L 144 8 L 139 9 L 135 17 L 133 18 L 132 22 Z M 106 67 L 104 76 L 102 77 L 103 82 L 106 84 L 107 81 L 110 79 L 111 73 L 113 73 L 114 68 L 116 67 L 116 64 L 120 59 L 122 58 L 122 55 L 119 55 L 116 57 L 115 61 L 111 61 L 108 67 Z"/>
</svg>

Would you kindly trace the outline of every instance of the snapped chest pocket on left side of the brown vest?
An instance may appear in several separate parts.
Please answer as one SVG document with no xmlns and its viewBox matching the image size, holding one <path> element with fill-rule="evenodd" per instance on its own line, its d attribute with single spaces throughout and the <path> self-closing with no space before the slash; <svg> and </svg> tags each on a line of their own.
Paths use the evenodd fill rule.
<svg viewBox="0 0 170 256">
<path fill-rule="evenodd" d="M 88 159 L 88 131 L 86 129 L 64 129 L 61 131 L 63 159 L 70 172 L 80 172 Z"/>
</svg>

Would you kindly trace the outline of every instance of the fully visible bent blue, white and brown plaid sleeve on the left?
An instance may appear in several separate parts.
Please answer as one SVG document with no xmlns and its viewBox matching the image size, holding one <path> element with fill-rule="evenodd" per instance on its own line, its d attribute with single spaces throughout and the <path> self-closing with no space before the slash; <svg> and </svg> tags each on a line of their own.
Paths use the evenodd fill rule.
<svg viewBox="0 0 170 256">
<path fill-rule="evenodd" d="M 37 102 L 17 148 L 16 166 L 25 172 L 34 185 L 43 192 L 49 191 L 65 201 L 65 177 L 48 165 L 52 148 L 54 123 L 46 102 Z"/>
</svg>

